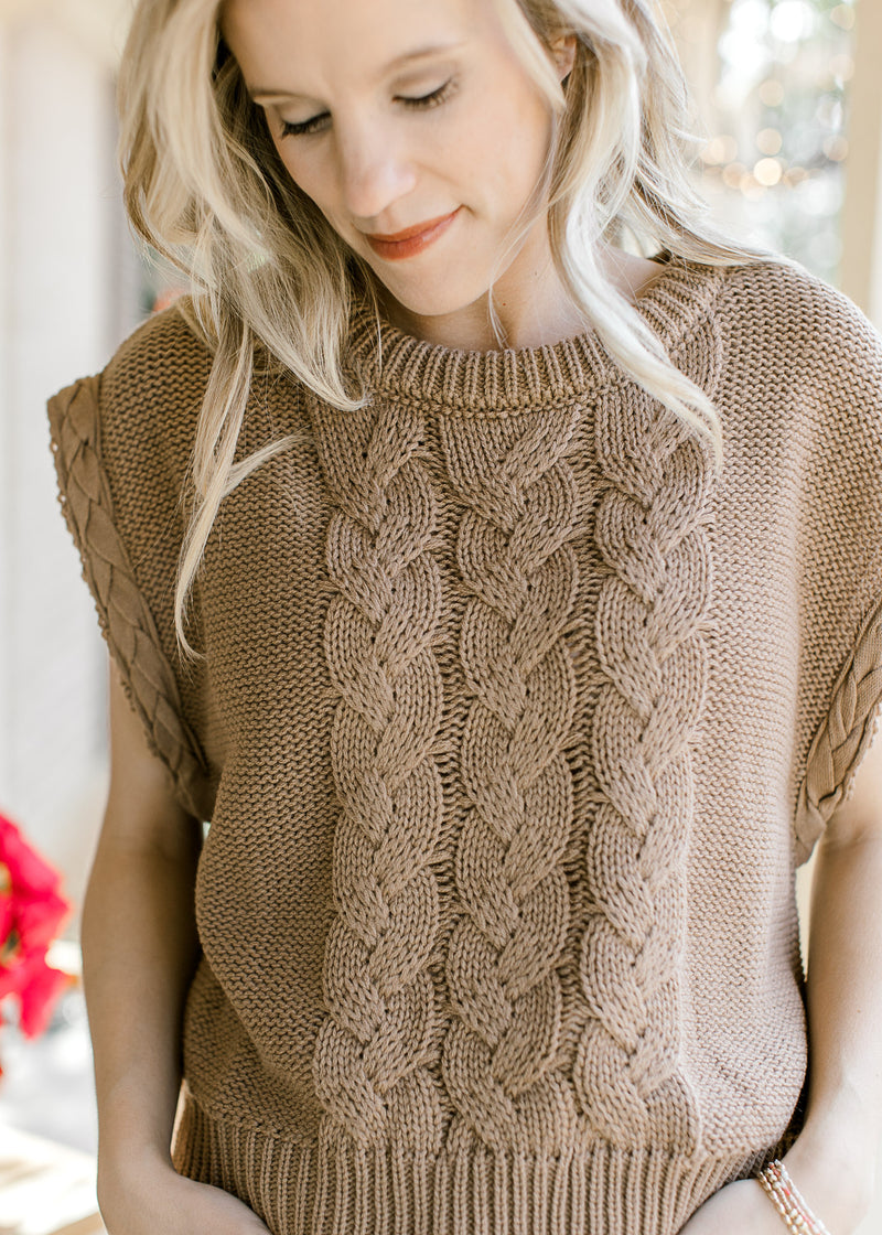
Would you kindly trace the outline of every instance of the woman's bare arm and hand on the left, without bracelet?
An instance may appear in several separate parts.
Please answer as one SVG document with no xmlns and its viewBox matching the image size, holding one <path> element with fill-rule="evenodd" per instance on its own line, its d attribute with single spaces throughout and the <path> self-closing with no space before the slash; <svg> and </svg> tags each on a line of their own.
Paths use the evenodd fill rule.
<svg viewBox="0 0 882 1235">
<path fill-rule="evenodd" d="M 82 926 L 101 1214 L 110 1235 L 266 1235 L 240 1202 L 172 1166 L 183 1008 L 199 956 L 201 823 L 178 805 L 112 661 L 110 747 Z"/>
</svg>

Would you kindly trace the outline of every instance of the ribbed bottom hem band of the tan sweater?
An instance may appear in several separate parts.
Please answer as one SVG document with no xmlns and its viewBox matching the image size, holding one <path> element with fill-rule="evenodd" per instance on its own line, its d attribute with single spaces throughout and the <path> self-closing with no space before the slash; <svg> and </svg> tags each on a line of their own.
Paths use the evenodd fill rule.
<svg viewBox="0 0 882 1235">
<path fill-rule="evenodd" d="M 237 1195 L 273 1235 L 676 1235 L 749 1158 L 598 1145 L 556 1158 L 322 1150 L 209 1116 L 184 1092 L 178 1171 Z"/>
</svg>

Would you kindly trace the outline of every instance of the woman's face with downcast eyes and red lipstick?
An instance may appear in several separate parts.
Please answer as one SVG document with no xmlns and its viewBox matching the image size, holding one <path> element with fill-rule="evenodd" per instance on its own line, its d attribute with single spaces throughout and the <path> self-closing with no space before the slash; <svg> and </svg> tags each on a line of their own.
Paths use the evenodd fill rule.
<svg viewBox="0 0 882 1235">
<path fill-rule="evenodd" d="M 222 30 L 293 179 L 398 304 L 483 308 L 551 138 L 494 0 L 227 0 Z M 497 304 L 535 294 L 547 264 L 541 217 L 499 267 Z"/>
</svg>

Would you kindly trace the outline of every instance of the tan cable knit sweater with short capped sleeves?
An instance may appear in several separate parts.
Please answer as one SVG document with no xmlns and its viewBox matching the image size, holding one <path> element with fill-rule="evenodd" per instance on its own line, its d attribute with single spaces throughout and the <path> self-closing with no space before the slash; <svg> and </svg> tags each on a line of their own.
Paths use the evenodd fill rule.
<svg viewBox="0 0 882 1235">
<path fill-rule="evenodd" d="M 103 631 L 210 820 L 183 1173 L 275 1235 L 674 1235 L 798 1131 L 794 869 L 882 699 L 882 341 L 778 262 L 639 301 L 725 466 L 598 336 L 356 305 L 258 379 L 177 655 L 210 357 L 177 308 L 49 404 Z"/>
</svg>

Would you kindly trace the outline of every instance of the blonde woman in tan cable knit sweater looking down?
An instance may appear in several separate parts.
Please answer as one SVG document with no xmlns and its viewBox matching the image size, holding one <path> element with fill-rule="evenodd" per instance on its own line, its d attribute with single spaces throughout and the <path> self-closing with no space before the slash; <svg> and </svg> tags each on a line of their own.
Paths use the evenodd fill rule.
<svg viewBox="0 0 882 1235">
<path fill-rule="evenodd" d="M 854 1231 L 878 336 L 704 219 L 649 0 L 141 0 L 121 105 L 193 296 L 51 401 L 110 1235 Z"/>
</svg>

